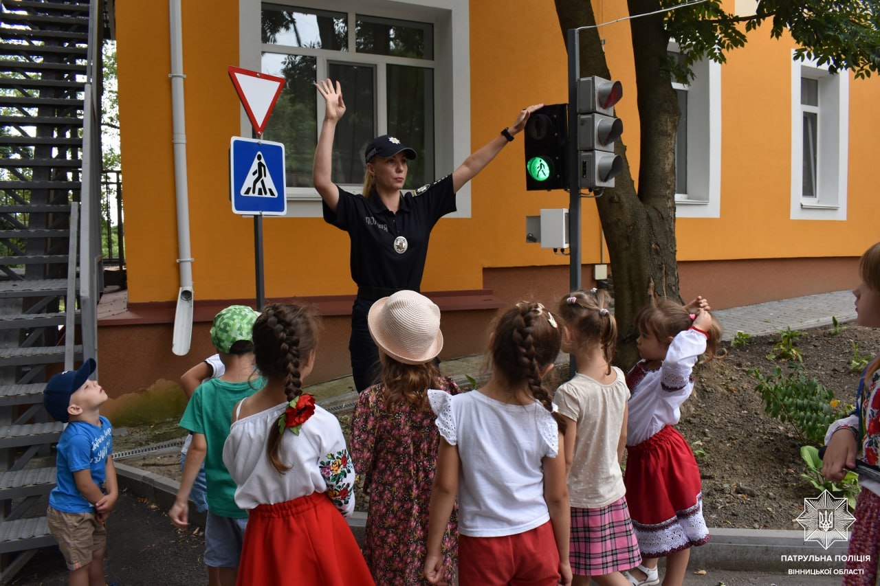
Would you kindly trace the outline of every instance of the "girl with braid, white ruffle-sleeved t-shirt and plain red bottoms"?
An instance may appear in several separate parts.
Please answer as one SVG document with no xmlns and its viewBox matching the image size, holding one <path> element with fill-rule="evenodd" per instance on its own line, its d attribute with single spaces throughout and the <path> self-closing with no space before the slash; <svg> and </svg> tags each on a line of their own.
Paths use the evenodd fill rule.
<svg viewBox="0 0 880 586">
<path fill-rule="evenodd" d="M 440 431 L 425 576 L 442 583 L 441 542 L 458 495 L 458 582 L 570 584 L 568 487 L 544 377 L 561 346 L 554 316 L 523 302 L 489 341 L 492 375 L 479 390 L 429 391 Z"/>
</svg>

